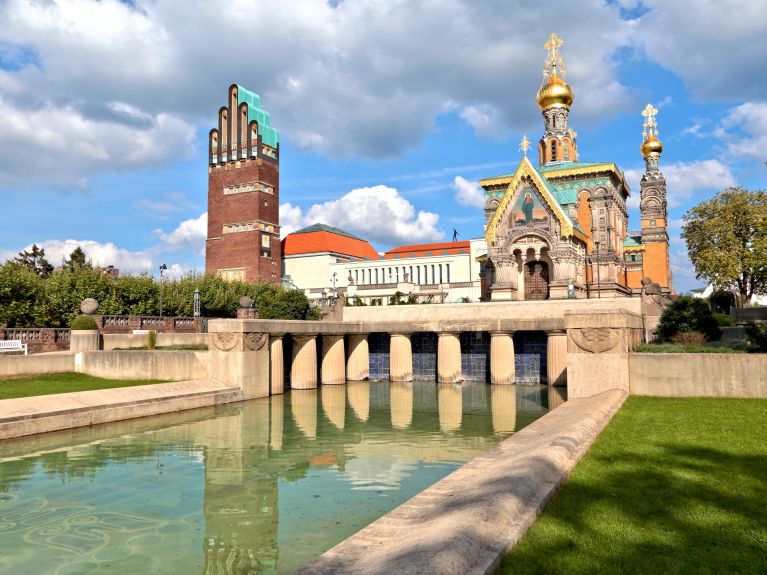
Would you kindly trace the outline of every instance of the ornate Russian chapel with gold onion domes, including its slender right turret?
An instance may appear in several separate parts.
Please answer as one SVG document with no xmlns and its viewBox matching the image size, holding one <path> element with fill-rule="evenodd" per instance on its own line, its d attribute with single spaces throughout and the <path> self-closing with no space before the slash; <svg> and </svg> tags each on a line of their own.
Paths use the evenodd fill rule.
<svg viewBox="0 0 767 575">
<path fill-rule="evenodd" d="M 668 258 L 666 180 L 660 171 L 663 146 L 657 110 L 645 108 L 640 183 L 641 231 L 629 231 L 626 201 L 631 194 L 613 162 L 582 162 L 577 133 L 568 116 L 573 90 L 566 82 L 555 34 L 538 106 L 544 131 L 538 165 L 528 157 L 514 172 L 480 181 L 485 190 L 483 299 L 536 300 L 638 295 L 642 278 L 672 290 Z"/>
</svg>

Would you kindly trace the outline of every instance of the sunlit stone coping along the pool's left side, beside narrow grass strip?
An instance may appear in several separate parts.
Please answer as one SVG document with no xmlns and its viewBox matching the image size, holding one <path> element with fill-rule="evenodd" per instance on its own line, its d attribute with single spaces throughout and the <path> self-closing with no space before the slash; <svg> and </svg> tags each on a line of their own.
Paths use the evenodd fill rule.
<svg viewBox="0 0 767 575">
<path fill-rule="evenodd" d="M 211 380 L 4 399 L 0 441 L 242 400 L 241 389 Z"/>
</svg>

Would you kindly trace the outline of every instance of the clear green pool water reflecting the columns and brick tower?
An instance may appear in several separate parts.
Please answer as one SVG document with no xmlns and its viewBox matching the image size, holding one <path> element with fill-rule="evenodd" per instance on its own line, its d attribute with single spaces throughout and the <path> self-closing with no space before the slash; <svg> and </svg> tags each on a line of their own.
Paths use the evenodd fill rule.
<svg viewBox="0 0 767 575">
<path fill-rule="evenodd" d="M 360 382 L 6 441 L 0 573 L 290 573 L 553 402 Z"/>
</svg>

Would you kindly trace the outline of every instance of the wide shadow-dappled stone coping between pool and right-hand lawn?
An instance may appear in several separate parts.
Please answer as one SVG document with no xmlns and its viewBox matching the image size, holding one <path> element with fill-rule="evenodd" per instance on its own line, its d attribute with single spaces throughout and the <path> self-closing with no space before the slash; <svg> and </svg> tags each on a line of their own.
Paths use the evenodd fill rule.
<svg viewBox="0 0 767 575">
<path fill-rule="evenodd" d="M 626 397 L 567 401 L 296 573 L 492 573 Z"/>
</svg>

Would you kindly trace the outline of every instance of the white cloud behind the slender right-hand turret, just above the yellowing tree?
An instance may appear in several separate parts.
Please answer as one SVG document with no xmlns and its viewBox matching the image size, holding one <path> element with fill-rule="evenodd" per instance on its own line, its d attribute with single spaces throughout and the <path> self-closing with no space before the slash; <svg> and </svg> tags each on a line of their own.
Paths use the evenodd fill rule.
<svg viewBox="0 0 767 575">
<path fill-rule="evenodd" d="M 730 167 L 719 160 L 661 163 L 661 172 L 666 177 L 666 199 L 671 207 L 684 204 L 696 192 L 719 191 L 737 183 Z M 639 168 L 624 172 L 632 190 L 629 208 L 639 207 L 639 182 L 642 174 L 644 169 Z"/>
</svg>

